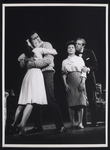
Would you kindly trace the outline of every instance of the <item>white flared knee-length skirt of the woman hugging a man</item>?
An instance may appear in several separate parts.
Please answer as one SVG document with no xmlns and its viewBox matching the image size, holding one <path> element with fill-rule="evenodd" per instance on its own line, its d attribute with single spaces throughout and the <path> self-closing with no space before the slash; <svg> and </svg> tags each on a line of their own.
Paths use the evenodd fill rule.
<svg viewBox="0 0 110 150">
<path fill-rule="evenodd" d="M 43 74 L 40 69 L 32 68 L 24 76 L 18 104 L 47 104 Z"/>
</svg>

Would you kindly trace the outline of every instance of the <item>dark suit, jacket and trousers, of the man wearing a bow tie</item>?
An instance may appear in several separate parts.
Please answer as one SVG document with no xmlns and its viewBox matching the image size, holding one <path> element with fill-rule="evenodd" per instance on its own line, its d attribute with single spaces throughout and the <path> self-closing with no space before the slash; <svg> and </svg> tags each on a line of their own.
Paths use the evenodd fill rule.
<svg viewBox="0 0 110 150">
<path fill-rule="evenodd" d="M 76 52 L 76 55 L 77 52 Z M 91 123 L 93 126 L 96 125 L 97 118 L 96 118 L 96 79 L 95 79 L 95 70 L 98 68 L 98 63 L 96 56 L 92 50 L 84 49 L 82 58 L 85 62 L 85 66 L 90 68 L 90 72 L 87 73 L 86 79 L 86 90 L 87 90 L 87 97 L 89 101 L 90 111 L 91 111 Z M 86 116 L 84 113 L 83 124 L 86 126 Z"/>
</svg>

